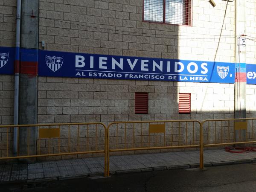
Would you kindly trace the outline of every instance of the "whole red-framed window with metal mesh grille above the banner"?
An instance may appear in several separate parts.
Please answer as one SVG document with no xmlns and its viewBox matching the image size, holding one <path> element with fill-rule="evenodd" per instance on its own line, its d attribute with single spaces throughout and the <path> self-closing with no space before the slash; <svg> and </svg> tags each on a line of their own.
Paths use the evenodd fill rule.
<svg viewBox="0 0 256 192">
<path fill-rule="evenodd" d="M 191 25 L 191 0 L 144 0 L 143 20 Z"/>
</svg>

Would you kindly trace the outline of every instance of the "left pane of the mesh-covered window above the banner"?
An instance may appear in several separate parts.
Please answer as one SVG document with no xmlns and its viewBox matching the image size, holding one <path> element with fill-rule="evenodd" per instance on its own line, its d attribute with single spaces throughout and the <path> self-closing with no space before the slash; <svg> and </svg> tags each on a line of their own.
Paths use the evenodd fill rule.
<svg viewBox="0 0 256 192">
<path fill-rule="evenodd" d="M 163 22 L 163 0 L 144 0 L 144 20 Z"/>
</svg>

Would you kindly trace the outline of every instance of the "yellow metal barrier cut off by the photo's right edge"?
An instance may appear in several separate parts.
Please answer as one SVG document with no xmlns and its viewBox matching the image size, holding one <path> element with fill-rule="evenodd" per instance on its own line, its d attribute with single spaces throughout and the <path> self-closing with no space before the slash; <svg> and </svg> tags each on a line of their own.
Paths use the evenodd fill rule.
<svg viewBox="0 0 256 192">
<path fill-rule="evenodd" d="M 204 168 L 204 147 L 256 143 L 255 125 L 256 118 L 208 119 L 203 121 L 200 168 Z"/>
</svg>

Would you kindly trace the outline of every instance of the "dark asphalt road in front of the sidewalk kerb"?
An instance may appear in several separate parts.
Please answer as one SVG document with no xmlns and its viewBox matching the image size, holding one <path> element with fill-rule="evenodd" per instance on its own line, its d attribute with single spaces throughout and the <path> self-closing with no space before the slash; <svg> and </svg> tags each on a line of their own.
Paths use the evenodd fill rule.
<svg viewBox="0 0 256 192">
<path fill-rule="evenodd" d="M 256 163 L 141 172 L 38 183 L 1 183 L 0 192 L 256 192 Z"/>
</svg>

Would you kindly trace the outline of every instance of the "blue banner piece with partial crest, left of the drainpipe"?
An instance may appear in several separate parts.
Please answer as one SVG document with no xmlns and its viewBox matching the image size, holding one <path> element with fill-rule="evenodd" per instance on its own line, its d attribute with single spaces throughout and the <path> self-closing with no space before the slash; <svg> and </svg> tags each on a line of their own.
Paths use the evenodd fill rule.
<svg viewBox="0 0 256 192">
<path fill-rule="evenodd" d="M 13 75 L 15 47 L 0 47 L 0 74 Z"/>
</svg>

